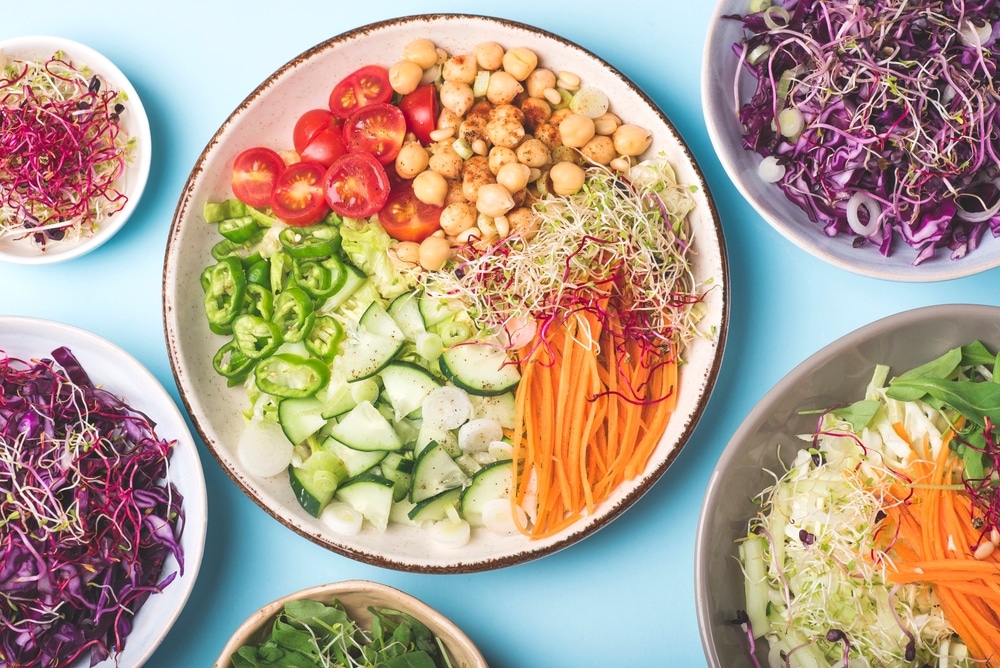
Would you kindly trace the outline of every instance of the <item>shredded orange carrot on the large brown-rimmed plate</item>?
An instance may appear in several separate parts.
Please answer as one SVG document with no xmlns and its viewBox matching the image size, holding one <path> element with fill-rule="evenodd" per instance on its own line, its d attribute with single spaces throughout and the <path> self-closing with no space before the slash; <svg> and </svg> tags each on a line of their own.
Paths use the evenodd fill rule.
<svg viewBox="0 0 1000 668">
<path fill-rule="evenodd" d="M 562 531 L 640 475 L 676 407 L 677 361 L 623 344 L 589 310 L 536 335 L 521 360 L 511 502 L 531 538 Z M 517 516 L 517 513 L 515 513 Z"/>
</svg>

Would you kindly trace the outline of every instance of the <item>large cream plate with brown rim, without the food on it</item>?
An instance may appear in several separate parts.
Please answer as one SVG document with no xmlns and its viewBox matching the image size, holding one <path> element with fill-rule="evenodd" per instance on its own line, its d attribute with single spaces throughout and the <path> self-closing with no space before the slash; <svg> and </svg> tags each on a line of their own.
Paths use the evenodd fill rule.
<svg viewBox="0 0 1000 668">
<path fill-rule="evenodd" d="M 424 37 L 452 52 L 468 52 L 491 40 L 507 48 L 531 48 L 541 63 L 572 71 L 602 88 L 613 108 L 651 129 L 655 143 L 650 151 L 663 151 L 679 180 L 696 187 L 697 209 L 691 214 L 696 230 L 694 271 L 697 280 L 714 283 L 706 299 L 704 327 L 715 336 L 695 341 L 687 351 L 677 411 L 647 470 L 621 486 L 596 513 L 546 539 L 481 531 L 456 550 L 435 546 L 424 532 L 400 525 L 390 525 L 384 533 L 367 525 L 357 536 L 334 533 L 299 508 L 285 476 L 248 475 L 235 454 L 245 393 L 226 387 L 212 368 L 212 356 L 224 339 L 209 331 L 199 282 L 202 270 L 212 263 L 209 249 L 217 241 L 214 226 L 202 217 L 203 204 L 231 196 L 231 166 L 240 151 L 260 144 L 288 146 L 298 115 L 325 107 L 334 82 L 363 65 L 391 65 L 404 44 Z M 279 68 L 233 112 L 199 157 L 181 194 L 167 244 L 163 298 L 167 346 L 183 400 L 219 464 L 251 499 L 302 536 L 354 559 L 400 570 L 463 572 L 499 568 L 566 547 L 617 517 L 662 475 L 691 436 L 719 371 L 728 321 L 728 265 L 718 214 L 694 158 L 662 112 L 624 75 L 594 54 L 526 25 L 478 16 L 414 16 L 358 28 L 315 46 Z"/>
</svg>

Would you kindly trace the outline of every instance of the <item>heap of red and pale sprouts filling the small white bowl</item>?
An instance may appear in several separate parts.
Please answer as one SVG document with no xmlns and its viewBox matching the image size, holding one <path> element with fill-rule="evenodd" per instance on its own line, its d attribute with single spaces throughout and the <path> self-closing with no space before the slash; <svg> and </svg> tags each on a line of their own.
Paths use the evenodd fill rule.
<svg viewBox="0 0 1000 668">
<path fill-rule="evenodd" d="M 44 247 L 93 233 L 127 202 L 124 95 L 61 53 L 0 65 L 0 234 Z"/>
</svg>

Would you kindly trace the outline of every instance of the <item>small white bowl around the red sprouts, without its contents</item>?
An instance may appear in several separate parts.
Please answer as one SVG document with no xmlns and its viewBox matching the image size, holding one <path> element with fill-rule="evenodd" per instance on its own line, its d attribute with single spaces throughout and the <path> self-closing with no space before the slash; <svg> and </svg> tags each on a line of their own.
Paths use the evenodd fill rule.
<svg viewBox="0 0 1000 668">
<path fill-rule="evenodd" d="M 30 238 L 20 234 L 0 236 L 0 260 L 15 264 L 50 264 L 79 257 L 93 251 L 115 235 L 132 216 L 146 182 L 152 158 L 152 136 L 149 118 L 139 94 L 125 75 L 105 56 L 94 49 L 62 37 L 30 36 L 0 40 L 0 52 L 18 59 L 45 60 L 56 51 L 66 54 L 74 67 L 87 67 L 104 78 L 107 85 L 128 96 L 121 126 L 136 139 L 135 151 L 129 160 L 124 176 L 119 180 L 121 190 L 128 198 L 124 208 L 110 216 L 99 229 L 75 240 L 48 240 L 44 249 Z"/>
</svg>

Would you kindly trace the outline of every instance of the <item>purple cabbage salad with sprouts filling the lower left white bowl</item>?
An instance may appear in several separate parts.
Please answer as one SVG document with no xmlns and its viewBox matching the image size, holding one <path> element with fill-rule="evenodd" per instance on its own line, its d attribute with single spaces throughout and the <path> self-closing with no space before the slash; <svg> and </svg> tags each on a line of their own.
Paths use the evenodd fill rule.
<svg viewBox="0 0 1000 668">
<path fill-rule="evenodd" d="M 121 652 L 139 608 L 183 572 L 175 443 L 68 348 L 0 351 L 0 666 Z"/>
</svg>

